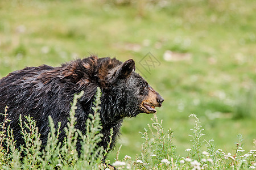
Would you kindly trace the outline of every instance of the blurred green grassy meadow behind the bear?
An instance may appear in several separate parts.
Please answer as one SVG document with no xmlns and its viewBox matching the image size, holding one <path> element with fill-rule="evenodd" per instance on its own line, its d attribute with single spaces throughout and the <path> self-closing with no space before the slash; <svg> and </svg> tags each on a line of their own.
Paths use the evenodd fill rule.
<svg viewBox="0 0 256 170">
<path fill-rule="evenodd" d="M 256 139 L 255 10 L 254 0 L 1 0 L 0 78 L 90 54 L 133 58 L 138 73 L 164 97 L 157 115 L 174 130 L 178 155 L 191 147 L 191 113 L 207 141 L 231 152 L 241 133 L 249 150 Z M 143 67 L 147 54 L 158 63 Z M 139 153 L 138 132 L 152 117 L 125 120 L 120 158 Z"/>
</svg>

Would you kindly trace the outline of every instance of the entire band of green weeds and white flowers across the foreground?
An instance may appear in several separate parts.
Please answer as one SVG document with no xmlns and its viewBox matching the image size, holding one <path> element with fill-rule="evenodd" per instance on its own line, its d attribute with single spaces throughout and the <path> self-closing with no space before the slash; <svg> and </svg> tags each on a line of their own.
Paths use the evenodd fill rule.
<svg viewBox="0 0 256 170">
<path fill-rule="evenodd" d="M 5 119 L 1 123 L 0 133 L 0 165 L 2 169 L 109 169 L 106 164 L 102 163 L 102 159 L 110 150 L 110 142 L 108 148 L 104 150 L 98 147 L 97 143 L 101 141 L 102 130 L 100 113 L 101 90 L 97 88 L 97 94 L 92 108 L 94 114 L 90 114 L 86 120 L 86 134 L 75 129 L 76 124 L 76 103 L 83 95 L 83 91 L 79 95 L 74 96 L 71 111 L 69 113 L 69 123 L 65 129 L 67 137 L 64 142 L 58 142 L 60 134 L 60 123 L 55 129 L 53 120 L 49 117 L 48 141 L 46 147 L 41 150 L 40 134 L 36 127 L 36 122 L 30 116 L 25 116 L 26 121 L 20 116 L 21 134 L 23 135 L 25 145 L 20 147 L 20 150 L 15 148 L 13 130 L 6 128 L 5 124 L 9 121 Z M 3 116 L 7 117 L 7 108 Z M 113 163 L 118 169 L 250 169 L 256 166 L 256 150 L 250 150 L 245 154 L 243 150 L 243 138 L 241 134 L 237 135 L 236 151 L 223 152 L 221 149 L 216 149 L 214 141 L 204 141 L 207 143 L 207 150 L 203 151 L 203 128 L 200 125 L 200 120 L 195 114 L 189 117 L 195 118 L 195 126 L 192 130 L 192 147 L 185 152 L 189 152 L 189 156 L 180 157 L 176 154 L 176 147 L 173 144 L 174 132 L 171 129 L 164 131 L 163 120 L 160 122 L 154 114 L 154 119 L 151 124 L 148 124 L 148 129 L 144 129 L 141 133 L 144 142 L 142 143 L 141 153 L 135 159 L 126 155 L 125 158 L 119 159 L 119 147 L 117 159 Z M 6 135 L 7 133 L 7 135 Z M 110 133 L 113 134 L 113 130 Z M 76 143 L 81 140 L 81 155 L 76 150 Z M 6 145 L 7 147 L 3 147 Z M 256 142 L 255 142 L 256 147 Z M 187 154 L 184 154 L 187 155 Z"/>
</svg>

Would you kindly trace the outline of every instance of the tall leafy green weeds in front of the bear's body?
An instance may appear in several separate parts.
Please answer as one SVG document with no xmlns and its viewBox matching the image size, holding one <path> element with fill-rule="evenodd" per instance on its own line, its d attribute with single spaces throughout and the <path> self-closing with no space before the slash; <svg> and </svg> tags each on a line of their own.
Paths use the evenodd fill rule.
<svg viewBox="0 0 256 170">
<path fill-rule="evenodd" d="M 13 130 L 5 127 L 9 120 L 1 123 L 0 133 L 0 167 L 1 169 L 104 169 L 106 164 L 102 163 L 102 159 L 110 150 L 104 150 L 102 147 L 97 147 L 97 143 L 101 141 L 102 134 L 100 133 L 102 126 L 100 121 L 100 97 L 101 90 L 97 88 L 97 94 L 93 107 L 94 114 L 90 114 L 86 120 L 86 134 L 75 129 L 76 124 L 76 103 L 77 100 L 84 94 L 82 91 L 79 95 L 75 95 L 69 113 L 69 122 L 65 128 L 66 137 L 63 143 L 59 142 L 60 122 L 55 129 L 53 120 L 49 116 L 48 141 L 46 147 L 42 150 L 40 134 L 36 127 L 36 122 L 30 116 L 20 116 L 21 135 L 23 135 L 24 146 L 20 149 L 15 148 Z M 7 108 L 3 116 L 7 117 Z M 7 135 L 6 135 L 7 133 Z M 113 130 L 110 133 L 113 134 Z M 111 136 L 110 136 L 111 138 Z M 76 144 L 80 139 L 82 149 L 81 156 L 76 149 Z M 6 145 L 7 147 L 4 147 Z"/>
</svg>

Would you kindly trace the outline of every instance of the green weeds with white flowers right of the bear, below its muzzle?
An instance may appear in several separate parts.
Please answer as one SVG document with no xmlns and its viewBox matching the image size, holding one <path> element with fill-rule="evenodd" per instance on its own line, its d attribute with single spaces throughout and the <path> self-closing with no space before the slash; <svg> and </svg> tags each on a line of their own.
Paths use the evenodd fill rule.
<svg viewBox="0 0 256 170">
<path fill-rule="evenodd" d="M 142 151 L 135 160 L 130 156 L 125 156 L 122 160 L 117 160 L 113 165 L 118 169 L 253 169 L 256 166 L 256 150 L 250 150 L 247 154 L 243 150 L 242 135 L 238 134 L 238 142 L 236 144 L 236 152 L 223 152 L 216 149 L 214 141 L 204 141 L 207 143 L 207 150 L 204 151 L 203 133 L 204 130 L 200 125 L 200 120 L 195 114 L 190 116 L 195 118 L 195 126 L 192 135 L 192 149 L 188 148 L 185 152 L 189 152 L 189 156 L 180 157 L 175 152 L 176 146 L 172 144 L 173 134 L 169 129 L 167 133 L 163 133 L 162 121 L 152 120 L 151 137 L 145 129 L 141 133 L 144 142 L 142 143 Z M 190 117 L 189 116 L 189 117 Z M 152 131 L 151 127 L 155 130 Z M 255 142 L 256 143 L 256 142 Z M 177 146 L 179 147 L 179 146 Z M 187 155 L 184 154 L 183 155 Z"/>
</svg>

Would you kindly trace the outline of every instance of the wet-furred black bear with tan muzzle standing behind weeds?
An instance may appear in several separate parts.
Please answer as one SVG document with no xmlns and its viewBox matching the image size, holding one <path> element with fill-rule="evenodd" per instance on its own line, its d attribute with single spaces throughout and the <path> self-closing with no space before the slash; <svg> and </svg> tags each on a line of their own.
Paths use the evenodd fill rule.
<svg viewBox="0 0 256 170">
<path fill-rule="evenodd" d="M 99 146 L 107 147 L 110 129 L 113 128 L 113 147 L 123 118 L 139 113 L 155 113 L 161 107 L 163 97 L 135 73 L 135 63 L 129 59 L 122 63 L 113 58 L 91 56 L 64 63 L 60 67 L 42 65 L 14 71 L 0 80 L 0 113 L 7 106 L 10 128 L 14 131 L 16 145 L 24 143 L 20 134 L 19 115 L 30 114 L 36 121 L 42 145 L 46 145 L 49 133 L 48 116 L 55 124 L 61 122 L 59 139 L 65 136 L 69 111 L 74 94 L 84 91 L 77 102 L 76 129 L 85 132 L 85 121 L 93 113 L 93 98 L 97 87 L 101 88 L 101 133 Z M 4 117 L 0 116 L 0 122 Z M 81 147 L 79 144 L 77 147 Z M 78 148 L 80 149 L 80 148 Z"/>
</svg>

